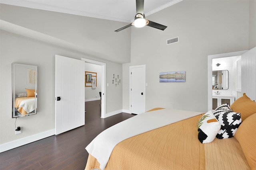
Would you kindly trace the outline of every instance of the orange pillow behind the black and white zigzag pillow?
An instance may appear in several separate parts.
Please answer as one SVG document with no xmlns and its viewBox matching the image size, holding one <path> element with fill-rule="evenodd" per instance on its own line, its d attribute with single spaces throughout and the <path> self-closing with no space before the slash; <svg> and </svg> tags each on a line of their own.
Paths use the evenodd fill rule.
<svg viewBox="0 0 256 170">
<path fill-rule="evenodd" d="M 242 97 L 237 99 L 231 106 L 230 109 L 241 114 L 242 121 L 247 117 L 256 113 L 256 102 L 250 100 L 244 93 Z"/>
</svg>

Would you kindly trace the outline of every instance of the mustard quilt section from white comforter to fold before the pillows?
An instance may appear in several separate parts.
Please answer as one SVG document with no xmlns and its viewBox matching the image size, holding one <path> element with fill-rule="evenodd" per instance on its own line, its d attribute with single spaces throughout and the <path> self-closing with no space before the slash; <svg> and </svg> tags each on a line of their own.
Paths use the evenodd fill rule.
<svg viewBox="0 0 256 170">
<path fill-rule="evenodd" d="M 202 115 L 142 133 L 120 142 L 105 170 L 204 169 L 204 145 L 197 139 L 197 122 Z M 100 169 L 91 155 L 85 170 Z"/>
</svg>

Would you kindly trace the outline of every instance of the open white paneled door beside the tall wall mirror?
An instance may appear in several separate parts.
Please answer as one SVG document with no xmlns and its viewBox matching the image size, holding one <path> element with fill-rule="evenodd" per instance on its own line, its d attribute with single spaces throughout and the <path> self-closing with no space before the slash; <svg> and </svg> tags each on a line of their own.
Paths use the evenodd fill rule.
<svg viewBox="0 0 256 170">
<path fill-rule="evenodd" d="M 84 125 L 84 61 L 55 56 L 55 135 Z"/>
</svg>

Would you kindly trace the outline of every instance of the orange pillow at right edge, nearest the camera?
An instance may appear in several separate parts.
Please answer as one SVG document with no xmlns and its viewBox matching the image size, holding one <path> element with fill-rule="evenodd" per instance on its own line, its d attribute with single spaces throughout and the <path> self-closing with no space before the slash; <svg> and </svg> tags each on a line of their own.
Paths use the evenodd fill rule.
<svg viewBox="0 0 256 170">
<path fill-rule="evenodd" d="M 252 170 L 256 169 L 256 113 L 249 116 L 238 127 L 234 138 L 240 143 L 244 156 Z"/>
</svg>

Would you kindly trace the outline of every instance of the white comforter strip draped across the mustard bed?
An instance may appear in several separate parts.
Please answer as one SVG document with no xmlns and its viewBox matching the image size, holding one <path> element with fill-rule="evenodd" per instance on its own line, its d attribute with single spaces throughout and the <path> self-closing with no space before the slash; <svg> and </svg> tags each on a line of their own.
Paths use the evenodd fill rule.
<svg viewBox="0 0 256 170">
<path fill-rule="evenodd" d="M 98 160 L 100 168 L 104 170 L 112 150 L 121 141 L 200 114 L 202 113 L 173 109 L 141 113 L 100 133 L 86 147 L 86 150 Z"/>
</svg>

